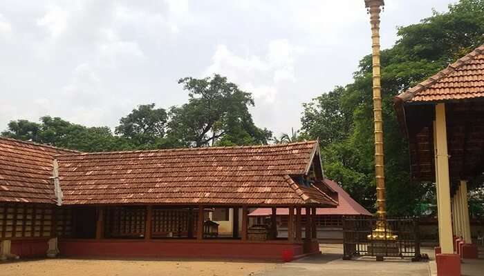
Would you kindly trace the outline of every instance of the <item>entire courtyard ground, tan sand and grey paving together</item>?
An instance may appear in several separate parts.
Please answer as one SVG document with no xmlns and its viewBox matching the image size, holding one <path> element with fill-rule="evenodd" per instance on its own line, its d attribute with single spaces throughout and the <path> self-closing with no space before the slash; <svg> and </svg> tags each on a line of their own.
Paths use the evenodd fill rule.
<svg viewBox="0 0 484 276">
<path fill-rule="evenodd" d="M 344 261 L 341 244 L 324 244 L 322 255 L 295 262 L 264 263 L 237 260 L 164 260 L 164 259 L 43 259 L 0 264 L 1 276 L 378 276 L 429 275 L 428 262 L 386 259 L 376 262 L 371 257 Z M 430 249 L 429 249 L 430 250 Z M 425 252 L 425 250 L 424 250 Z"/>
</svg>

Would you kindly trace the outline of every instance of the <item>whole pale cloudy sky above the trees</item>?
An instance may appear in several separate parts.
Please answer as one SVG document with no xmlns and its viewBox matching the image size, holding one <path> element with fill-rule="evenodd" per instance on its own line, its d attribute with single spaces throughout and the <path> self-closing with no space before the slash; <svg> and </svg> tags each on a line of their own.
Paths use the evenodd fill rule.
<svg viewBox="0 0 484 276">
<path fill-rule="evenodd" d="M 385 2 L 382 48 L 456 0 Z M 44 115 L 114 128 L 139 104 L 185 103 L 178 79 L 218 73 L 279 135 L 300 128 L 302 103 L 351 82 L 370 32 L 363 0 L 0 0 L 0 130 Z"/>
</svg>

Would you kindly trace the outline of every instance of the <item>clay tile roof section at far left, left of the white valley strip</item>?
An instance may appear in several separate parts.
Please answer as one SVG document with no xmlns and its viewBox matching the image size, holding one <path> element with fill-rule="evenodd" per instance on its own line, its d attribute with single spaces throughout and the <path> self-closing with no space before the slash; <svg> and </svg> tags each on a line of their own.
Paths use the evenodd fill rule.
<svg viewBox="0 0 484 276">
<path fill-rule="evenodd" d="M 0 137 L 0 201 L 54 203 L 54 155 L 71 150 Z"/>
</svg>

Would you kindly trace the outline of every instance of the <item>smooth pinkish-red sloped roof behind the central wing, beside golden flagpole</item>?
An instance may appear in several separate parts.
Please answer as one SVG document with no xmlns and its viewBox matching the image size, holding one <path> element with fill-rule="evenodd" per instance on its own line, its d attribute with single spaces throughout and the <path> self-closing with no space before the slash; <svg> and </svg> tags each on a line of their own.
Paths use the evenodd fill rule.
<svg viewBox="0 0 484 276">
<path fill-rule="evenodd" d="M 336 208 L 316 208 L 317 215 L 368 215 L 371 213 L 363 206 L 358 204 L 355 199 L 351 198 L 346 191 L 341 188 L 335 181 L 324 179 L 324 184 L 338 193 L 338 206 Z M 267 216 L 272 214 L 271 208 L 257 208 L 250 213 L 250 216 Z M 288 208 L 277 208 L 277 215 L 289 215 Z M 306 215 L 306 210 L 303 208 L 301 214 Z"/>
</svg>

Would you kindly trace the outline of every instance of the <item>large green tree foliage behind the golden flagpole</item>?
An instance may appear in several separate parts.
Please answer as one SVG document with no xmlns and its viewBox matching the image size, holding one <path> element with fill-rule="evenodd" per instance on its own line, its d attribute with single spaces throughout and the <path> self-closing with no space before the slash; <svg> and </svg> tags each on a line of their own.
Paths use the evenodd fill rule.
<svg viewBox="0 0 484 276">
<path fill-rule="evenodd" d="M 484 43 L 484 1 L 461 0 L 449 12 L 434 12 L 420 23 L 398 29 L 400 39 L 383 50 L 382 98 L 387 211 L 418 215 L 432 186 L 409 179 L 409 153 L 393 109 L 393 97 L 442 70 Z M 322 141 L 326 176 L 374 210 L 373 102 L 371 56 L 360 61 L 353 83 L 304 104 L 305 135 Z"/>
</svg>

